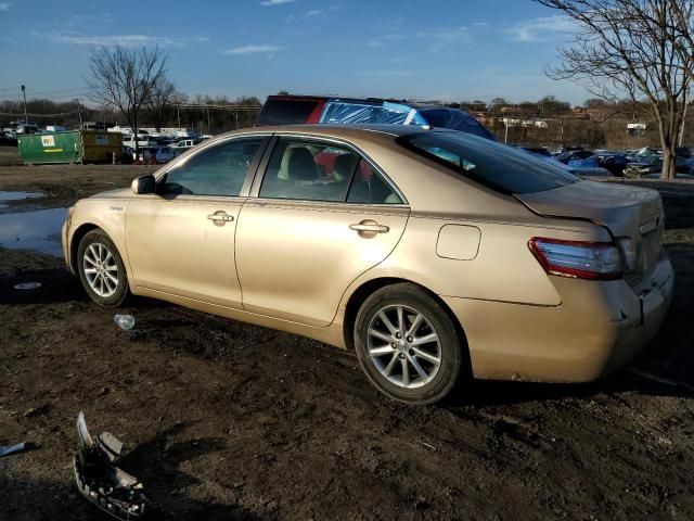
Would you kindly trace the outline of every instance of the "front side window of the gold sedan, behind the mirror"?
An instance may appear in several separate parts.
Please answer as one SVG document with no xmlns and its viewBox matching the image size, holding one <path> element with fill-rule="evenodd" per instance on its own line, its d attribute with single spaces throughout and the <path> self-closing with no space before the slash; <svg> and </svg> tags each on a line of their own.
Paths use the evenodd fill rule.
<svg viewBox="0 0 694 521">
<path fill-rule="evenodd" d="M 265 138 L 211 145 L 166 174 L 165 194 L 237 196 Z"/>
</svg>

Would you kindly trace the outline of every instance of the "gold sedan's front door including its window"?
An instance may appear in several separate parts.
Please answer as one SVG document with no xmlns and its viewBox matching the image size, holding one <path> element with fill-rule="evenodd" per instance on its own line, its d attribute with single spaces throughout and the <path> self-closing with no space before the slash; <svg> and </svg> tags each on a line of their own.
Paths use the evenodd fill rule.
<svg viewBox="0 0 694 521">
<path fill-rule="evenodd" d="M 265 137 L 215 143 L 174 166 L 156 195 L 127 207 L 126 241 L 134 285 L 241 307 L 234 236 Z"/>
</svg>

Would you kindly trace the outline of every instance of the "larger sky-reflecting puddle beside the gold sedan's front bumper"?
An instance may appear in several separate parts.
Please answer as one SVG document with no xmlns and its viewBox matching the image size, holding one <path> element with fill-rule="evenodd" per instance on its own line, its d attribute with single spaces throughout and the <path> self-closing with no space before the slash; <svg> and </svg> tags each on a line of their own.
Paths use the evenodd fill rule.
<svg viewBox="0 0 694 521">
<path fill-rule="evenodd" d="M 0 198 L 2 193 L 0 192 Z M 63 255 L 61 228 L 65 216 L 65 208 L 1 214 L 0 246 L 12 250 L 35 250 L 60 257 Z"/>
</svg>

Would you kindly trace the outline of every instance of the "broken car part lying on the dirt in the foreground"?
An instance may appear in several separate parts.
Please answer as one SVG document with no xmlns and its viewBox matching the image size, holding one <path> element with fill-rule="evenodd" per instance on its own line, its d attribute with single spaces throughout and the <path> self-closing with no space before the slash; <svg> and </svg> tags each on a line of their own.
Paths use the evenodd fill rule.
<svg viewBox="0 0 694 521">
<path fill-rule="evenodd" d="M 142 519 L 147 505 L 142 483 L 114 465 L 123 443 L 107 432 L 92 440 L 83 412 L 77 433 L 82 448 L 75 456 L 75 480 L 82 496 L 116 519 Z"/>
</svg>

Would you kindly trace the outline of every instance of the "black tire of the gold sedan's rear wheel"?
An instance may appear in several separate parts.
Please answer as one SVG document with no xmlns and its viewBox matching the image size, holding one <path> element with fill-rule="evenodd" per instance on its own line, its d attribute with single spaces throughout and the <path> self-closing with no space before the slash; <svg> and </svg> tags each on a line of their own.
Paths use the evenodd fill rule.
<svg viewBox="0 0 694 521">
<path fill-rule="evenodd" d="M 399 307 L 402 309 L 401 314 L 398 312 Z M 424 322 L 424 319 L 420 320 L 422 326 L 414 333 L 422 332 L 419 336 L 420 339 L 429 336 L 433 333 L 437 336 L 438 342 L 415 345 L 414 343 L 410 344 L 396 340 L 394 334 L 400 334 L 398 336 L 400 339 L 402 333 L 393 333 L 386 322 L 382 320 L 381 317 L 383 315 L 381 315 L 381 312 L 385 313 L 386 318 L 396 317 L 396 320 L 402 316 L 401 322 L 404 325 L 403 327 L 397 327 L 395 321 L 389 321 L 390 326 L 395 326 L 396 330 L 406 331 L 406 334 L 407 329 L 412 327 L 414 321 L 412 317 L 422 315 L 426 321 Z M 372 327 L 372 331 L 388 332 L 386 335 L 390 336 L 390 339 L 387 340 L 383 336 L 370 334 L 370 327 Z M 402 340 L 409 341 L 411 338 L 413 342 L 416 342 L 417 335 L 414 333 Z M 464 339 L 460 338 L 455 325 L 441 305 L 414 284 L 393 284 L 382 288 L 370 295 L 357 314 L 354 334 L 355 348 L 361 368 L 381 392 L 394 399 L 408 404 L 433 404 L 449 394 L 460 378 L 463 353 L 466 353 Z M 385 350 L 385 353 L 375 355 L 374 358 L 370 354 L 370 340 L 372 348 L 375 351 Z M 383 346 L 376 347 L 375 344 L 377 342 L 381 342 Z M 406 345 L 402 345 L 403 343 Z M 424 347 L 425 345 L 426 347 Z M 394 350 L 393 353 L 387 351 L 388 346 Z M 419 353 L 414 351 L 414 347 Z M 422 353 L 425 350 L 428 351 Z M 438 358 L 438 366 L 429 363 L 428 358 L 421 358 L 420 354 L 429 355 L 432 359 Z M 396 356 L 398 359 L 395 358 Z M 414 364 L 411 361 L 412 359 L 417 363 L 420 369 L 424 369 L 425 373 L 427 368 L 432 370 L 427 374 L 430 380 L 422 378 L 422 373 L 417 374 L 416 370 L 414 371 L 414 379 L 409 376 L 410 367 L 416 369 L 413 365 L 410 366 L 410 364 Z M 398 365 L 400 365 L 399 368 L 397 367 Z M 403 367 L 406 365 L 408 366 L 407 369 Z M 390 368 L 390 371 L 388 371 L 388 368 Z M 389 372 L 389 374 L 385 376 L 384 371 Z M 399 376 L 397 374 L 398 371 L 400 372 Z M 404 376 L 406 371 L 408 377 Z M 398 380 L 398 378 L 399 382 L 394 381 Z M 403 385 L 404 383 L 416 386 L 406 386 Z"/>
</svg>

